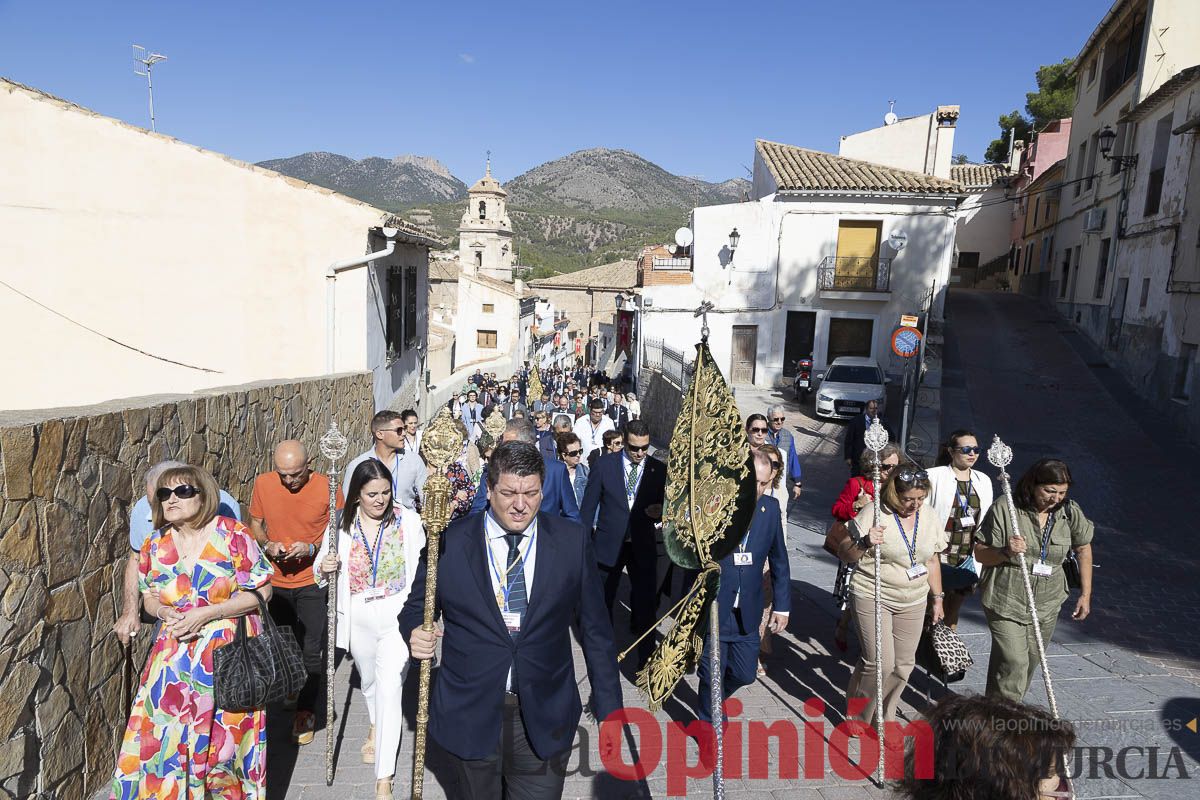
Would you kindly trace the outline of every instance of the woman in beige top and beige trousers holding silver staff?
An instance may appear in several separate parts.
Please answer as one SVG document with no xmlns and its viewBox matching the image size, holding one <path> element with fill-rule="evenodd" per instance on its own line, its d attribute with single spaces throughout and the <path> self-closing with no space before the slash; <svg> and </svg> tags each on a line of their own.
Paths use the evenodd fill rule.
<svg viewBox="0 0 1200 800">
<path fill-rule="evenodd" d="M 875 670 L 882 662 L 883 718 L 895 720 L 900 694 L 917 663 L 925 618 L 926 596 L 934 597 L 934 622 L 941 621 L 942 572 L 938 553 L 946 549 L 946 529 L 925 505 L 929 476 L 902 467 L 892 470 L 880 493 L 880 524 L 872 528 L 874 509 L 864 507 L 850 523 L 850 541 L 839 557 L 858 569 L 851 578 L 851 606 L 858 628 L 859 657 L 846 690 L 848 717 L 875 718 Z M 875 555 L 880 546 L 883 651 L 875 652 Z M 866 704 L 856 708 L 856 698 Z M 857 711 L 857 712 L 856 712 Z"/>
</svg>

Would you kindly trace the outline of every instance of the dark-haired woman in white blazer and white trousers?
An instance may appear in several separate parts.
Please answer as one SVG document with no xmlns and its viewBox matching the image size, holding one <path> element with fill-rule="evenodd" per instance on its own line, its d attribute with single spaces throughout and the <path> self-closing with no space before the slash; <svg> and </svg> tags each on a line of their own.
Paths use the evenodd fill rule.
<svg viewBox="0 0 1200 800">
<path fill-rule="evenodd" d="M 396 616 L 425 547 L 420 515 L 394 506 L 391 486 L 391 473 L 382 462 L 368 458 L 359 464 L 338 515 L 337 554 L 329 552 L 326 540 L 313 561 L 317 585 L 337 576 L 337 646 L 349 650 L 362 680 L 371 718 L 362 760 L 376 765 L 377 799 L 391 798 L 404 726 L 401 691 L 408 644 Z"/>
</svg>

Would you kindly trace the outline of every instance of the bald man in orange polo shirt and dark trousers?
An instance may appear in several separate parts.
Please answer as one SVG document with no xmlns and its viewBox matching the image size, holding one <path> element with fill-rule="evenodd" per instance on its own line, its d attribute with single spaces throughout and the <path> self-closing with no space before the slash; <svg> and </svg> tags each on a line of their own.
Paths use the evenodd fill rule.
<svg viewBox="0 0 1200 800">
<path fill-rule="evenodd" d="M 337 507 L 344 504 L 337 491 Z M 320 697 L 325 663 L 326 594 L 317 587 L 312 560 L 329 525 L 329 477 L 312 471 L 304 443 L 281 441 L 275 471 L 254 479 L 250 529 L 275 565 L 271 573 L 271 616 L 290 625 L 304 652 L 308 680 L 296 698 L 292 738 L 307 745 L 316 736 L 313 711 Z M 328 724 L 328 722 L 326 722 Z"/>
</svg>

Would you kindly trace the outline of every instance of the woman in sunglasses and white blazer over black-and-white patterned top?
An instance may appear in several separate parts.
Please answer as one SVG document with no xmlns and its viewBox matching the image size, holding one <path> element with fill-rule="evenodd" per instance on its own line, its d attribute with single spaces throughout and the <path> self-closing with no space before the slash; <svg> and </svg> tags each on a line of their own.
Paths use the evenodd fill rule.
<svg viewBox="0 0 1200 800">
<path fill-rule="evenodd" d="M 974 469 L 979 456 L 976 435 L 955 431 L 937 453 L 937 467 L 929 470 L 928 503 L 950 542 L 941 563 L 946 624 L 952 628 L 958 627 L 959 610 L 979 581 L 982 570 L 972 554 L 972 540 L 994 497 L 991 479 Z"/>
</svg>

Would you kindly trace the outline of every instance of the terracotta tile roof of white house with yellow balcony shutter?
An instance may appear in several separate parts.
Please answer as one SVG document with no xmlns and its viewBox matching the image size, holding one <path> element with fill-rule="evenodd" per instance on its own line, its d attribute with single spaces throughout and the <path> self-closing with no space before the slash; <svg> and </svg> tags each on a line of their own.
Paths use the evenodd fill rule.
<svg viewBox="0 0 1200 800">
<path fill-rule="evenodd" d="M 756 143 L 780 191 L 960 194 L 955 181 L 778 142 Z"/>
</svg>

